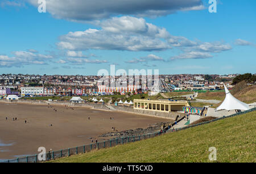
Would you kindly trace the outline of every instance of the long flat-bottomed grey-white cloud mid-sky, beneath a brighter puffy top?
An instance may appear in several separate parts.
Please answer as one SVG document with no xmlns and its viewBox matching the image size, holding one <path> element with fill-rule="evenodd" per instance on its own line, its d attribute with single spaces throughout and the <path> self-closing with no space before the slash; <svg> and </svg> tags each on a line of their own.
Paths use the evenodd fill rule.
<svg viewBox="0 0 256 174">
<path fill-rule="evenodd" d="M 91 29 L 89 29 L 91 31 Z M 57 43 L 60 49 L 85 51 L 87 49 L 126 50 L 126 51 L 162 51 L 170 49 L 166 42 L 145 35 L 117 34 L 105 30 L 88 32 L 69 32 L 60 37 Z"/>
</svg>

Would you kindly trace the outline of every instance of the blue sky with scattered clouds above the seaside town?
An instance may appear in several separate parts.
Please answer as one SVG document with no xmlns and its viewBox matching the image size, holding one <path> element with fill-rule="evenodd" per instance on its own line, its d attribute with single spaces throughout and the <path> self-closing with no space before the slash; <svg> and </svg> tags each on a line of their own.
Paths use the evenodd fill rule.
<svg viewBox="0 0 256 174">
<path fill-rule="evenodd" d="M 256 73 L 254 0 L 217 1 L 217 13 L 208 1 L 129 2 L 46 0 L 47 13 L 39 13 L 34 0 L 1 1 L 0 73 L 89 75 L 110 64 Z"/>
</svg>

